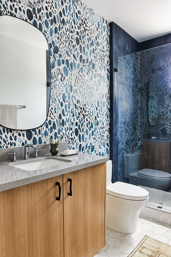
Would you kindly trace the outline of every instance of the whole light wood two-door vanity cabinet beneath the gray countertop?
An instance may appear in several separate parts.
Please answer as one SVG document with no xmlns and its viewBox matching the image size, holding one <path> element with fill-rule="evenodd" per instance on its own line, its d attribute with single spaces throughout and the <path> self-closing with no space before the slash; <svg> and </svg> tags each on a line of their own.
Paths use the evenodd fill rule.
<svg viewBox="0 0 171 257">
<path fill-rule="evenodd" d="M 106 163 L 2 191 L 0 256 L 93 257 L 106 244 L 105 204 Z"/>
</svg>

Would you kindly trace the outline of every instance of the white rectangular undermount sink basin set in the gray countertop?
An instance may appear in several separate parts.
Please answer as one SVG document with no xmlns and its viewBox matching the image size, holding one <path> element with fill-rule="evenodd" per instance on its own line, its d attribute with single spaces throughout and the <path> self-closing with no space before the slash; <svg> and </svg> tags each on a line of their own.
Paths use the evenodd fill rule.
<svg viewBox="0 0 171 257">
<path fill-rule="evenodd" d="M 43 168 L 49 168 L 56 165 L 61 165 L 64 162 L 71 162 L 71 160 L 59 160 L 53 157 L 51 158 L 44 158 L 38 160 L 25 160 L 21 161 L 20 163 L 9 163 L 9 165 L 19 168 L 21 170 L 39 170 Z"/>
</svg>

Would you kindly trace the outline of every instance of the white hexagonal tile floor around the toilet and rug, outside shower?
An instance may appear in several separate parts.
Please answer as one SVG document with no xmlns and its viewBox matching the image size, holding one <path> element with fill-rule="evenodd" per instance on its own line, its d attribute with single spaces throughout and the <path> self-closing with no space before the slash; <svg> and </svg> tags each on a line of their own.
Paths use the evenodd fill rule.
<svg viewBox="0 0 171 257">
<path fill-rule="evenodd" d="M 141 216 L 137 230 L 132 234 L 123 234 L 106 228 L 106 246 L 95 257 L 127 257 L 145 235 L 171 245 L 170 225 Z"/>
</svg>

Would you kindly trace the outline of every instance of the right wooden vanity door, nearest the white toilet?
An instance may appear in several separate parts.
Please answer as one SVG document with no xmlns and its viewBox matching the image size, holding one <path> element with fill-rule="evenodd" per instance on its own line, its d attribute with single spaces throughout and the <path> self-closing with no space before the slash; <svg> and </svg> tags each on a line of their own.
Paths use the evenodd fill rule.
<svg viewBox="0 0 171 257">
<path fill-rule="evenodd" d="M 92 257 L 106 244 L 105 170 L 102 163 L 63 175 L 65 257 Z"/>
</svg>

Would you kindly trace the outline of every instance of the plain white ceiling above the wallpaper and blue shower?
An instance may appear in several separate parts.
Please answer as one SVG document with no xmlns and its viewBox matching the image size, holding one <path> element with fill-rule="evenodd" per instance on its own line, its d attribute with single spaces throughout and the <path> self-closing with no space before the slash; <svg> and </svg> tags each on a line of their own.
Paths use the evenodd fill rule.
<svg viewBox="0 0 171 257">
<path fill-rule="evenodd" d="M 171 33 L 171 0 L 83 0 L 137 41 Z"/>
</svg>

